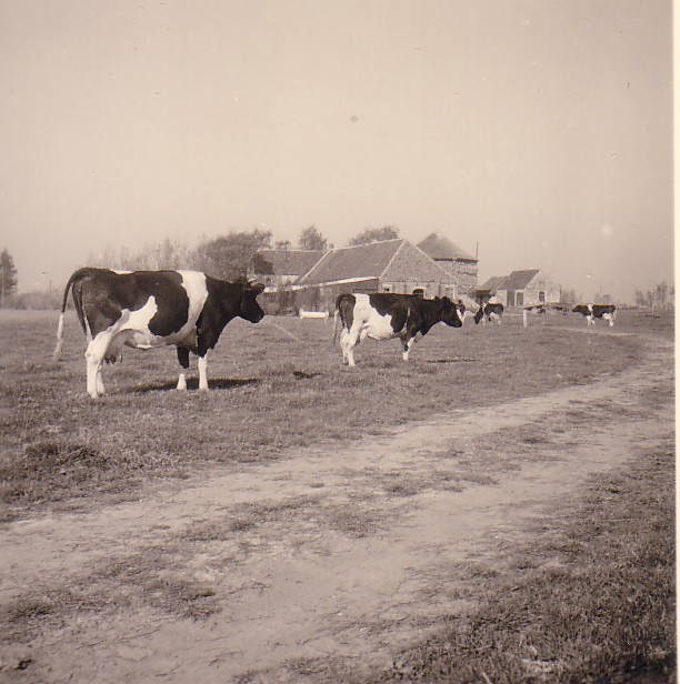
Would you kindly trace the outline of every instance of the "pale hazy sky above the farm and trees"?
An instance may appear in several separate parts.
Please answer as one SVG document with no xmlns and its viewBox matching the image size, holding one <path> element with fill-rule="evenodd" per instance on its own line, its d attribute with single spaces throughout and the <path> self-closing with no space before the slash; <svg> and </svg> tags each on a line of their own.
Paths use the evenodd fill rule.
<svg viewBox="0 0 680 684">
<path fill-rule="evenodd" d="M 386 224 L 584 299 L 673 281 L 670 0 L 0 0 L 0 249 Z"/>
</svg>

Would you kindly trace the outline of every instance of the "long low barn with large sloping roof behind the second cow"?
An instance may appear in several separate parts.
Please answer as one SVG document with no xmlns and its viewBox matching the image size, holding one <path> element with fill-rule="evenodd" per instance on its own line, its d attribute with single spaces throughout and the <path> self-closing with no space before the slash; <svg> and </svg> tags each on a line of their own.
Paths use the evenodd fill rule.
<svg viewBox="0 0 680 684">
<path fill-rule="evenodd" d="M 282 260 L 279 268 L 283 266 L 291 270 Z M 260 280 L 267 278 L 257 272 L 252 275 Z M 332 311 L 336 298 L 343 292 L 416 293 L 427 298 L 459 295 L 459 285 L 451 271 L 401 239 L 334 248 L 324 252 L 306 272 L 300 272 L 294 281 L 277 282 L 280 278 L 281 273 L 276 270 L 270 274 L 271 285 L 262 298 L 270 312 Z"/>
</svg>

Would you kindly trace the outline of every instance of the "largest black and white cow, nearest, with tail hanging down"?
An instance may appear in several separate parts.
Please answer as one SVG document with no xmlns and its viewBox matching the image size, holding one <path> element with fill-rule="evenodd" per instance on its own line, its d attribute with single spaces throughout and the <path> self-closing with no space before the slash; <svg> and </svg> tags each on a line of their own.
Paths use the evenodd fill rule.
<svg viewBox="0 0 680 684">
<path fill-rule="evenodd" d="M 208 390 L 207 354 L 232 319 L 258 323 L 264 312 L 260 283 L 229 283 L 199 271 L 129 271 L 84 268 L 63 292 L 54 359 L 61 354 L 69 291 L 88 339 L 88 394 L 104 393 L 101 366 L 120 358 L 123 344 L 152 349 L 174 344 L 182 366 L 178 390 L 187 389 L 189 352 L 198 355 L 199 389 Z"/>
</svg>

